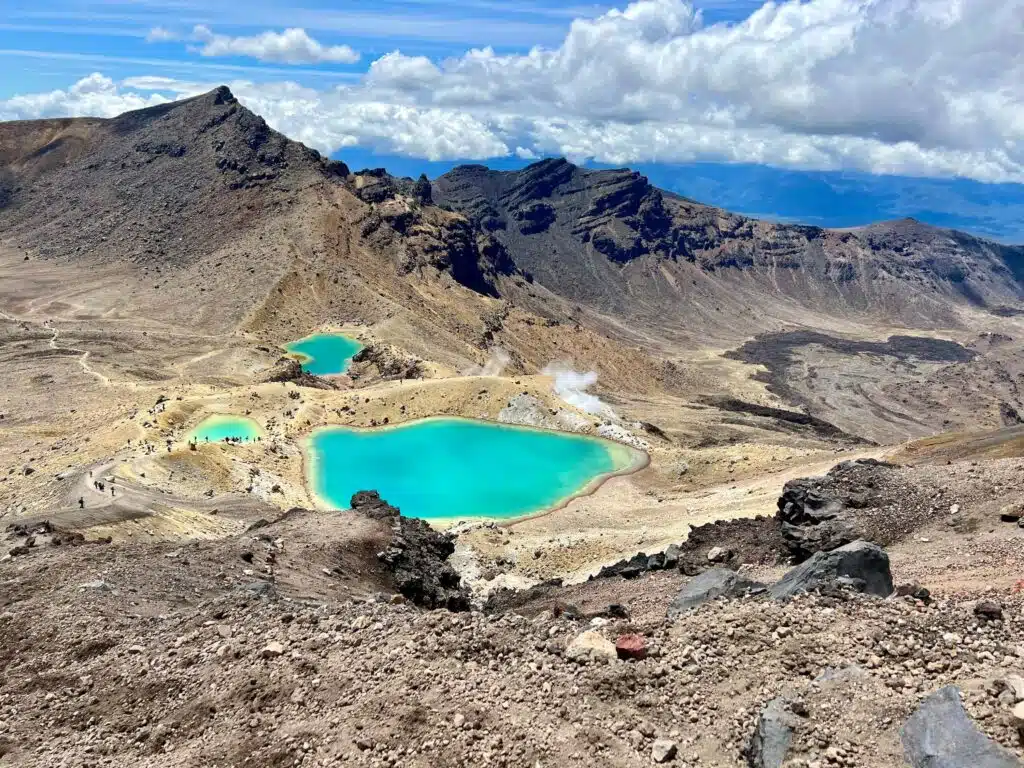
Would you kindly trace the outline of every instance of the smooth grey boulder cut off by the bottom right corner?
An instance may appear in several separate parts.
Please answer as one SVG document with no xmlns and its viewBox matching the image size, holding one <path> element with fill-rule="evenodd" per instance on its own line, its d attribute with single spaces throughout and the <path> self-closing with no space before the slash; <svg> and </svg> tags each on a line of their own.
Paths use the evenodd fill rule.
<svg viewBox="0 0 1024 768">
<path fill-rule="evenodd" d="M 940 688 L 921 702 L 900 732 L 903 753 L 913 768 L 1022 768 L 964 711 L 959 691 Z"/>
</svg>

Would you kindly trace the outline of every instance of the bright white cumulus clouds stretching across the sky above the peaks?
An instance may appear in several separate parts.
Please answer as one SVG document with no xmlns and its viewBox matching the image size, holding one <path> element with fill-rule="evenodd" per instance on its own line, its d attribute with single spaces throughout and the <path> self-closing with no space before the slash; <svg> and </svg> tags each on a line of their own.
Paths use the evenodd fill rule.
<svg viewBox="0 0 1024 768">
<path fill-rule="evenodd" d="M 707 160 L 1024 182 L 1022 25 L 1024 0 L 787 0 L 711 26 L 684 0 L 637 0 L 577 18 L 555 47 L 441 59 L 393 51 L 331 89 L 229 85 L 275 128 L 329 153 L 358 144 L 430 160 Z M 325 53 L 335 48 L 302 30 L 187 37 L 207 55 L 347 55 Z M 37 101 L 48 114 L 109 114 L 197 87 L 135 78 L 91 100 L 17 96 L 0 114 Z"/>
</svg>

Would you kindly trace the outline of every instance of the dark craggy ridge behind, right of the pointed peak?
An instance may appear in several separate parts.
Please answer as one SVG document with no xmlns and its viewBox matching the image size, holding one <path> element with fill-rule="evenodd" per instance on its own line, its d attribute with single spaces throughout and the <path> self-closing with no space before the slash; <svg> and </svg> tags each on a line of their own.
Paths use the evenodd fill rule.
<svg viewBox="0 0 1024 768">
<path fill-rule="evenodd" d="M 773 223 L 666 193 L 636 171 L 584 169 L 564 160 L 520 171 L 463 166 L 433 187 L 434 200 L 492 231 L 518 266 L 556 293 L 610 311 L 628 312 L 638 293 L 678 300 L 686 283 L 743 271 L 786 299 L 810 299 L 812 309 L 838 299 L 911 323 L 913 314 L 924 315 L 916 323 L 954 322 L 949 307 L 935 301 L 940 297 L 979 307 L 1024 299 L 1024 248 L 920 222 L 856 229 Z M 621 274 L 606 268 L 645 259 L 655 261 L 648 272 L 666 263 L 695 269 L 673 266 L 659 280 L 635 274 L 642 267 Z M 582 289 L 585 275 L 599 275 L 609 290 Z M 911 285 L 919 278 L 929 284 L 924 291 Z M 886 282 L 903 285 L 887 289 Z M 900 306 L 900 290 L 912 295 L 909 312 Z M 664 308 L 662 302 L 646 314 L 653 318 Z"/>
</svg>

